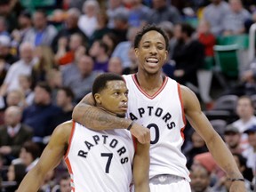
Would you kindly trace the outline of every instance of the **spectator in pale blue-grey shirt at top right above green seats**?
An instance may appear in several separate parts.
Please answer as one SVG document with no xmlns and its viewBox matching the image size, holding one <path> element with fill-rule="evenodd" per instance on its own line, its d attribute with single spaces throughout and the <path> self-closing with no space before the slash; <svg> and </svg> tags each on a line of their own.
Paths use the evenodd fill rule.
<svg viewBox="0 0 256 192">
<path fill-rule="evenodd" d="M 223 35 L 239 35 L 245 33 L 244 22 L 251 18 L 251 13 L 244 9 L 241 0 L 229 0 L 229 10 L 223 20 Z"/>
</svg>

